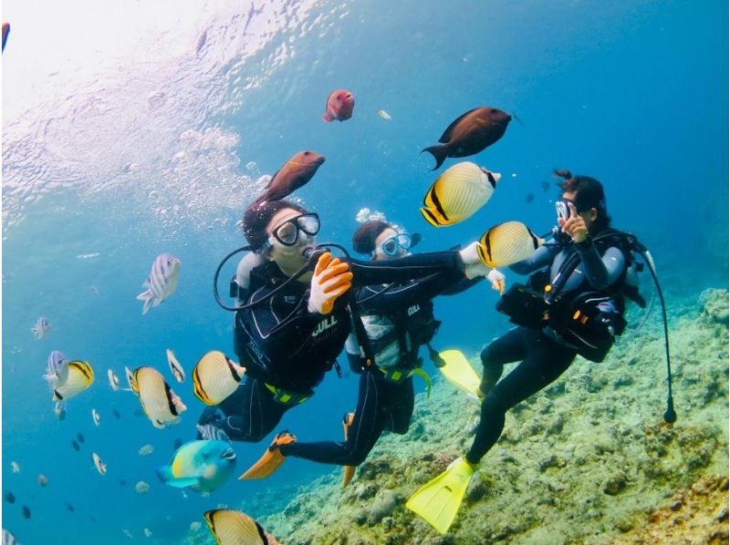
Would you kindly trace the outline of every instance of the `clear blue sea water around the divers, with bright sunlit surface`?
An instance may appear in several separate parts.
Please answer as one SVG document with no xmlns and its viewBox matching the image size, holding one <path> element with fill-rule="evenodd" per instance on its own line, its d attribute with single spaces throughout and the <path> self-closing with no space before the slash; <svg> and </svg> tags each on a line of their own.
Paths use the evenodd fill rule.
<svg viewBox="0 0 730 545">
<path fill-rule="evenodd" d="M 297 192 L 322 219 L 320 241 L 349 244 L 362 207 L 422 232 L 424 251 L 470 242 L 499 221 L 546 232 L 555 191 L 540 182 L 567 168 L 603 181 L 614 225 L 650 247 L 671 308 L 727 287 L 724 3 L 120 2 L 111 15 L 91 3 L 25 4 L 4 3 L 2 247 L 2 488 L 16 496 L 3 502 L 2 524 L 24 544 L 128 543 L 125 529 L 133 540 L 179 542 L 206 509 L 270 487 L 291 493 L 285 487 L 332 469 L 287 460 L 274 478 L 229 482 L 207 499 L 184 499 L 152 472 L 176 437 L 193 436 L 202 408 L 189 381 L 166 374 L 165 348 L 188 371 L 208 350 L 233 355 L 232 315 L 211 294 L 214 268 L 242 245 L 235 222 L 261 189 L 256 180 L 301 149 L 327 157 Z M 355 95 L 353 118 L 326 124 L 325 100 L 341 87 Z M 493 199 L 437 231 L 418 211 L 436 177 L 419 151 L 477 106 L 522 123 L 475 158 L 503 173 Z M 135 295 L 162 252 L 181 258 L 180 285 L 142 316 Z M 495 298 L 480 286 L 439 300 L 437 344 L 471 355 L 504 332 Z M 36 342 L 29 330 L 40 315 L 52 329 Z M 41 379 L 53 349 L 97 375 L 63 422 Z M 168 376 L 189 407 L 180 426 L 153 429 L 134 415 L 134 396 L 110 390 L 106 370 L 123 381 L 124 365 Z M 339 438 L 356 386 L 353 375 L 331 374 L 281 427 Z M 79 431 L 86 442 L 76 452 Z M 155 450 L 142 458 L 147 443 Z M 266 444 L 237 444 L 237 469 Z M 139 480 L 149 494 L 135 493 Z"/>
</svg>

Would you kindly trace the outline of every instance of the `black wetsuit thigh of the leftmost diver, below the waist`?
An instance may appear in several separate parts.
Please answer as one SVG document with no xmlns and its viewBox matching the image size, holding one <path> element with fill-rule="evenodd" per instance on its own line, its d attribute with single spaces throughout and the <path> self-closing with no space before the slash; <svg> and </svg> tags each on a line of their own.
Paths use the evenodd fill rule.
<svg viewBox="0 0 730 545">
<path fill-rule="evenodd" d="M 223 415 L 210 424 L 222 429 L 233 441 L 257 443 L 274 431 L 288 407 L 274 401 L 263 381 L 247 376 L 245 383 L 218 408 Z M 201 420 L 209 409 L 203 411 Z"/>
</svg>

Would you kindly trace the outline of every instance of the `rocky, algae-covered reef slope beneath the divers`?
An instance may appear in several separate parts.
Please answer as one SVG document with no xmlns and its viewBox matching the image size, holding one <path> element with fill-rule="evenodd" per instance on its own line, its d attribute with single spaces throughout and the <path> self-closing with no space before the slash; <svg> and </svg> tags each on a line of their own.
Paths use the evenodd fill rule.
<svg viewBox="0 0 730 545">
<path fill-rule="evenodd" d="M 603 363 L 578 358 L 507 414 L 445 536 L 404 507 L 464 454 L 478 421 L 440 378 L 431 398 L 417 396 L 408 435 L 382 437 L 348 488 L 334 468 L 238 507 L 285 544 L 727 543 L 728 293 L 672 309 L 673 426 L 662 423 L 660 315 L 657 305 Z M 478 355 L 473 364 L 481 371 Z M 203 528 L 185 542 L 214 541 Z"/>
</svg>

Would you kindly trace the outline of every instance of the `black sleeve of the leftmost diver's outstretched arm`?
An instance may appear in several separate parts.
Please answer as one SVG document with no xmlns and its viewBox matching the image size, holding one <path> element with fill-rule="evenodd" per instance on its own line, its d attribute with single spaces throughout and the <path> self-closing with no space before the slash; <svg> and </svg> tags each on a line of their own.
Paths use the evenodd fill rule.
<svg viewBox="0 0 730 545">
<path fill-rule="evenodd" d="M 434 273 L 464 276 L 464 263 L 458 252 L 416 253 L 383 262 L 349 260 L 355 286 L 377 283 L 407 283 Z M 453 279 L 454 276 L 451 276 Z"/>
</svg>

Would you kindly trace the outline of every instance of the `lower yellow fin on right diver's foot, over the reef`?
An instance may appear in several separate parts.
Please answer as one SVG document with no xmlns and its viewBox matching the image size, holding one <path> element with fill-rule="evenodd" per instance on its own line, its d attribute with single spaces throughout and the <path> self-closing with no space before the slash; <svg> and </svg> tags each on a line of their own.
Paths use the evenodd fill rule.
<svg viewBox="0 0 730 545">
<path fill-rule="evenodd" d="M 405 507 L 443 535 L 454 522 L 473 475 L 474 467 L 456 458 L 441 475 L 419 488 Z"/>
</svg>

